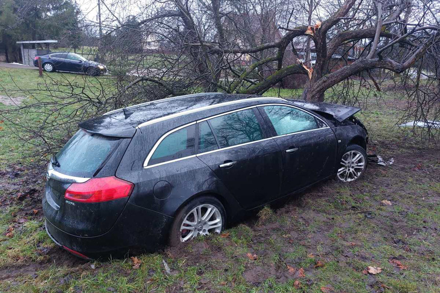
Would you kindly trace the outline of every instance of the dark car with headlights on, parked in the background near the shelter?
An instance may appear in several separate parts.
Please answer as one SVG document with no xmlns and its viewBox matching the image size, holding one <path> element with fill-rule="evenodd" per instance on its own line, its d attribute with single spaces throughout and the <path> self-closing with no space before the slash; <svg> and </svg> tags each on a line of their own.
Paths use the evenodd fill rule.
<svg viewBox="0 0 440 293">
<path fill-rule="evenodd" d="M 103 64 L 87 60 L 81 55 L 69 52 L 55 52 L 42 56 L 35 56 L 34 66 L 38 67 L 38 59 L 44 71 L 80 72 L 88 75 L 99 75 L 107 72 Z"/>
</svg>

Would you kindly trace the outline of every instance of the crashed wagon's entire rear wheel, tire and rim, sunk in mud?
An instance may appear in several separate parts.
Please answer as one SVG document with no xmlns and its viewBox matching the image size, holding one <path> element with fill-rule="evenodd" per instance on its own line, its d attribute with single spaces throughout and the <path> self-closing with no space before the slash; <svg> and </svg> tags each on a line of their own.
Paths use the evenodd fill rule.
<svg viewBox="0 0 440 293">
<path fill-rule="evenodd" d="M 197 210 L 196 208 L 199 206 L 201 206 L 202 221 L 194 221 L 194 210 Z M 209 207 L 215 207 L 216 210 L 213 211 L 213 214 L 209 219 L 203 219 L 203 217 L 208 213 Z M 210 211 L 212 212 L 212 209 Z M 216 222 L 218 219 L 221 219 L 221 222 Z M 194 224 L 194 226 L 190 226 L 188 224 L 183 225 L 184 220 L 197 224 Z M 211 224 L 209 224 L 209 222 L 211 222 Z M 169 244 L 170 246 L 177 246 L 182 242 L 190 241 L 195 236 L 207 235 L 214 232 L 220 233 L 224 229 L 225 224 L 226 212 L 223 205 L 217 198 L 213 196 L 197 197 L 188 202 L 177 212 L 174 218 L 174 223 L 171 227 Z M 189 227 L 189 229 L 181 230 L 181 227 Z M 191 232 L 195 234 L 192 235 Z"/>
</svg>

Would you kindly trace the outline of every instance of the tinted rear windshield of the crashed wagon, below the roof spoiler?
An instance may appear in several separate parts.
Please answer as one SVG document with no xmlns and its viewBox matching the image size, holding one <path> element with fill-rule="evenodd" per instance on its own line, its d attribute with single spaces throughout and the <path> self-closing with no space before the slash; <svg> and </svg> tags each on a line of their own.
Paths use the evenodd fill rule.
<svg viewBox="0 0 440 293">
<path fill-rule="evenodd" d="M 93 177 L 120 140 L 79 130 L 57 154 L 60 167 L 53 167 L 66 175 Z"/>
</svg>

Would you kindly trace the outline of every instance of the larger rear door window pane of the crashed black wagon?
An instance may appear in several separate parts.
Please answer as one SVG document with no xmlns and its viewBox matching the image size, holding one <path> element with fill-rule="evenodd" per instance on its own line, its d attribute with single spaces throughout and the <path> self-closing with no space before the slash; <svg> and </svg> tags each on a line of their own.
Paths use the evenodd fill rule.
<svg viewBox="0 0 440 293">
<path fill-rule="evenodd" d="M 252 109 L 210 120 L 220 148 L 263 139 L 263 132 Z"/>
</svg>

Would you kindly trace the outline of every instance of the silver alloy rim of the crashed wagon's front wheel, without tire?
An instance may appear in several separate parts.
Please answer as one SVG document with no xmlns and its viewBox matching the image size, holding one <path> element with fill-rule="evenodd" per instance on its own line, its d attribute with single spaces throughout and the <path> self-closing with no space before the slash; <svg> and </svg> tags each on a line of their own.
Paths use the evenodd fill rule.
<svg viewBox="0 0 440 293">
<path fill-rule="evenodd" d="M 356 180 L 364 172 L 365 156 L 357 150 L 348 151 L 342 156 L 341 165 L 338 178 L 344 182 Z"/>
</svg>

